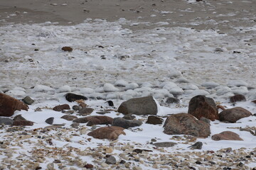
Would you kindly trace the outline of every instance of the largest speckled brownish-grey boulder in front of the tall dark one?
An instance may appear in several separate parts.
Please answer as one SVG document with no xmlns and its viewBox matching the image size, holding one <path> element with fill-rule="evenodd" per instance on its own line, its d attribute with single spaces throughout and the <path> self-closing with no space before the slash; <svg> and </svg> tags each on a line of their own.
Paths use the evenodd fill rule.
<svg viewBox="0 0 256 170">
<path fill-rule="evenodd" d="M 193 135 L 208 137 L 210 125 L 201 120 L 196 120 L 193 115 L 178 113 L 170 115 L 164 123 L 164 133 L 167 135 Z"/>
</svg>

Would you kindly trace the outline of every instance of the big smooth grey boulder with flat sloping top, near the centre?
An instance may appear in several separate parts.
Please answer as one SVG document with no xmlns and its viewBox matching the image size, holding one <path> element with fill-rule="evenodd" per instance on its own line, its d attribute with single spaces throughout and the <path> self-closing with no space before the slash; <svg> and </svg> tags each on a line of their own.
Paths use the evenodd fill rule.
<svg viewBox="0 0 256 170">
<path fill-rule="evenodd" d="M 124 115 L 156 115 L 157 105 L 152 96 L 131 98 L 119 106 L 118 112 Z"/>
</svg>

